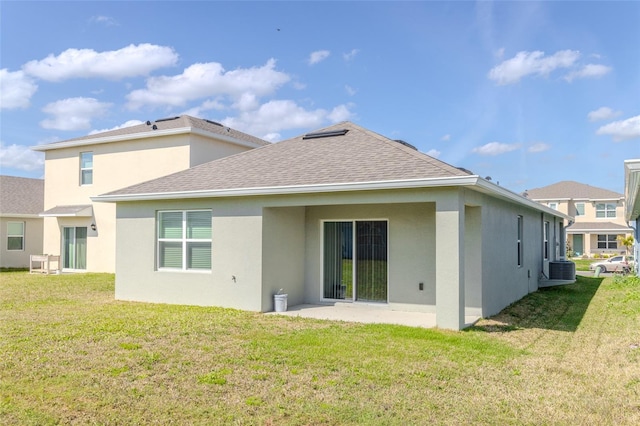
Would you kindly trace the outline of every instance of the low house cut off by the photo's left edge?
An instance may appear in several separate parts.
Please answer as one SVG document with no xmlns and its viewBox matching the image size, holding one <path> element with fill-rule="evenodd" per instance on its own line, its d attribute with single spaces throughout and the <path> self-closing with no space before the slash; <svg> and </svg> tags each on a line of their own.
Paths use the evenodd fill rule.
<svg viewBox="0 0 640 426">
<path fill-rule="evenodd" d="M 43 206 L 42 179 L 0 176 L 0 267 L 28 268 L 42 254 Z"/>
</svg>

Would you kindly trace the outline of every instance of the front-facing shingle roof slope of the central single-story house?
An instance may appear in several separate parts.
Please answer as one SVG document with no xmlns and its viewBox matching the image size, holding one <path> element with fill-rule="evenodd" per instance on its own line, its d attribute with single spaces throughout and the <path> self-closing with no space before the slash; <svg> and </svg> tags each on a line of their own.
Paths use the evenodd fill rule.
<svg viewBox="0 0 640 426">
<path fill-rule="evenodd" d="M 103 195 L 160 194 L 469 176 L 468 171 L 350 122 L 201 164 Z"/>
</svg>

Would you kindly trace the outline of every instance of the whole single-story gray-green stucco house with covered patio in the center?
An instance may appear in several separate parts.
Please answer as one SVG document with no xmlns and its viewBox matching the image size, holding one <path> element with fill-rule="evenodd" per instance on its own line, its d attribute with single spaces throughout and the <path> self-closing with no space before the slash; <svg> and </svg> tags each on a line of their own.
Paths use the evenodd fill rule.
<svg viewBox="0 0 640 426">
<path fill-rule="evenodd" d="M 439 327 L 536 291 L 567 216 L 349 122 L 92 198 L 116 298 L 273 310 L 365 302 Z"/>
</svg>

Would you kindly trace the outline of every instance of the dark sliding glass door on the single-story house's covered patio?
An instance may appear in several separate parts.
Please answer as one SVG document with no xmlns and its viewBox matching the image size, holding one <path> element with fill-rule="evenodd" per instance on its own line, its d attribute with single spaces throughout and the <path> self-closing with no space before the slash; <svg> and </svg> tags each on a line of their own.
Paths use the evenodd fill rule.
<svg viewBox="0 0 640 426">
<path fill-rule="evenodd" d="M 387 301 L 387 222 L 324 223 L 323 297 Z"/>
</svg>

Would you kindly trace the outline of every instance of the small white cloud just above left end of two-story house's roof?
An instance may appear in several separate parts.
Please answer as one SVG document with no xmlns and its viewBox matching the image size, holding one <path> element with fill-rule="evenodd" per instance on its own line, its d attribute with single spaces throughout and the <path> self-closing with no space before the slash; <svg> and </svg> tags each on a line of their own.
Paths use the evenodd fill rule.
<svg viewBox="0 0 640 426">
<path fill-rule="evenodd" d="M 107 113 L 110 103 L 94 98 L 68 98 L 46 105 L 42 111 L 52 115 L 40 122 L 45 129 L 84 130 L 91 128 L 91 120 Z"/>
</svg>

